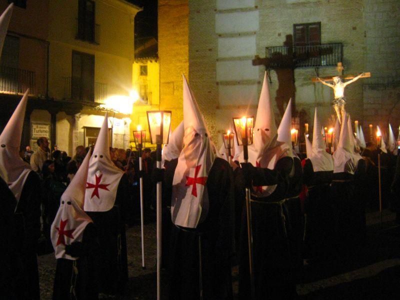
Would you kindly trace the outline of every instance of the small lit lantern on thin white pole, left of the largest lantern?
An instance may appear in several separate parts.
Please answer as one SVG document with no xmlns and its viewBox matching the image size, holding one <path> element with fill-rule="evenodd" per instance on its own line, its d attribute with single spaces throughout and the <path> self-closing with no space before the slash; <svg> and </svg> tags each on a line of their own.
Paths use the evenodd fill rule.
<svg viewBox="0 0 400 300">
<path fill-rule="evenodd" d="M 136 130 L 133 130 L 133 138 L 136 149 L 139 154 L 139 186 L 140 186 L 140 226 L 141 226 L 141 267 L 146 268 L 144 264 L 144 212 L 143 212 L 143 175 L 141 170 L 143 169 L 143 162 L 141 159 L 141 149 L 144 147 L 146 130 L 141 130 L 141 125 L 136 126 Z"/>
</svg>

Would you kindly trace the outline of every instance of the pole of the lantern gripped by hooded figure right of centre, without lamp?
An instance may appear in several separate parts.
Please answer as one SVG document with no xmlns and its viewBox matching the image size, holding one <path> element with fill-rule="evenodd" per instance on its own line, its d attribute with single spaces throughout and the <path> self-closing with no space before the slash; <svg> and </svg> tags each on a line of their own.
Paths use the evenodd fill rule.
<svg viewBox="0 0 400 300">
<path fill-rule="evenodd" d="M 247 151 L 247 140 L 243 139 L 243 158 L 244 162 L 247 163 L 248 151 Z M 248 241 L 248 265 L 250 271 L 250 287 L 251 296 L 253 299 L 255 296 L 255 285 L 254 285 L 254 262 L 253 262 L 253 237 L 251 228 L 251 203 L 250 203 L 250 189 L 246 187 L 246 216 L 247 216 L 247 241 Z"/>
</svg>

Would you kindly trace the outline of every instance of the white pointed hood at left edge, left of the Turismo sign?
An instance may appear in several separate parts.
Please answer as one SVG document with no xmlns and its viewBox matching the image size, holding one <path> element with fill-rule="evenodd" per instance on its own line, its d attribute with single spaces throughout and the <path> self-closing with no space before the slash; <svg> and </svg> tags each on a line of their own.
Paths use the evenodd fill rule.
<svg viewBox="0 0 400 300">
<path fill-rule="evenodd" d="M 22 96 L 4 130 L 0 134 L 0 176 L 8 183 L 18 203 L 23 184 L 31 171 L 30 165 L 19 157 L 23 119 L 25 118 L 28 92 Z"/>
</svg>

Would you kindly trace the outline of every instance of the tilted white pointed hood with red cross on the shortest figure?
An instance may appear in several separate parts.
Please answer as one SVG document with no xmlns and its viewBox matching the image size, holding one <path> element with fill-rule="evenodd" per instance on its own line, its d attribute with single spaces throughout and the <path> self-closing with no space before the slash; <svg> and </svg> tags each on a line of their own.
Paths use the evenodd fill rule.
<svg viewBox="0 0 400 300">
<path fill-rule="evenodd" d="M 89 168 L 90 149 L 83 159 L 79 169 L 61 195 L 60 205 L 51 224 L 51 243 L 55 251 L 55 258 L 75 260 L 65 253 L 65 245 L 74 241 L 82 241 L 86 225 L 92 222 L 83 211 L 86 177 Z"/>
</svg>

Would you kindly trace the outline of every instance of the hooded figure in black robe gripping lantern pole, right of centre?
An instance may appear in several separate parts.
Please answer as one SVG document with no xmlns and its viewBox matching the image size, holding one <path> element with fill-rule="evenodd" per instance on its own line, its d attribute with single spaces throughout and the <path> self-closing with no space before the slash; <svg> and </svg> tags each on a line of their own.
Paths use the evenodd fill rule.
<svg viewBox="0 0 400 300">
<path fill-rule="evenodd" d="M 243 177 L 251 191 L 254 264 L 254 299 L 292 298 L 296 295 L 292 276 L 287 226 L 291 226 L 283 199 L 286 197 L 293 158 L 290 147 L 277 141 L 277 129 L 270 101 L 266 73 L 258 101 L 253 144 L 248 146 L 248 163 L 242 163 Z M 243 153 L 240 154 L 243 161 Z M 250 298 L 248 237 L 245 213 L 241 222 L 239 298 Z"/>
</svg>

